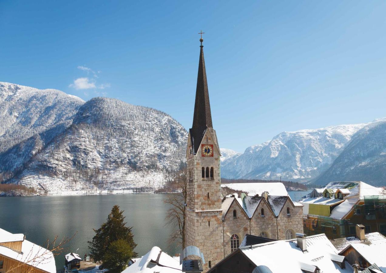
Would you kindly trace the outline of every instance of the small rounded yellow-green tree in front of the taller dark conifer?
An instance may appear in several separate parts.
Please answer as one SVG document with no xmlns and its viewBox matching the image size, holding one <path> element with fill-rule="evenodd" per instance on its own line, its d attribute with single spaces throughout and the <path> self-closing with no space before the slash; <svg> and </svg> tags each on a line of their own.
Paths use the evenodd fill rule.
<svg viewBox="0 0 386 273">
<path fill-rule="evenodd" d="M 123 239 L 114 241 L 103 256 L 103 267 L 108 268 L 109 273 L 120 273 L 127 267 L 130 259 L 135 256 L 134 254 L 127 241 Z"/>
</svg>

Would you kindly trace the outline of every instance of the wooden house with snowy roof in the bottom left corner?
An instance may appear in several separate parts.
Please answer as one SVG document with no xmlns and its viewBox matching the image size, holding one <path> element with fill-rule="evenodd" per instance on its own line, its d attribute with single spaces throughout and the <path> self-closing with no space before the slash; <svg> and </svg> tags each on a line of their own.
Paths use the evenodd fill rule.
<svg viewBox="0 0 386 273">
<path fill-rule="evenodd" d="M 0 229 L 0 273 L 56 273 L 54 254 L 31 243 L 24 234 Z"/>
</svg>

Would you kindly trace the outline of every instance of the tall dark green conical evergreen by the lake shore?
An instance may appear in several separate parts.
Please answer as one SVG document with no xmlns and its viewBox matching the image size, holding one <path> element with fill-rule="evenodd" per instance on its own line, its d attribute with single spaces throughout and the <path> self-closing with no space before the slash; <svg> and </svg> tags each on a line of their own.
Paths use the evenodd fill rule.
<svg viewBox="0 0 386 273">
<path fill-rule="evenodd" d="M 113 243 L 118 240 L 124 241 L 128 250 L 132 253 L 129 259 L 137 256 L 137 253 L 134 252 L 137 244 L 134 243 L 133 234 L 131 233 L 132 227 L 125 226 L 126 222 L 124 222 L 125 217 L 122 216 L 123 212 L 119 209 L 118 205 L 113 206 L 107 217 L 107 222 L 103 223 L 99 229 L 94 229 L 95 236 L 92 241 L 88 241 L 90 257 L 96 262 L 102 262 L 103 267 L 105 267 L 107 256 L 112 253 L 110 246 L 114 246 L 115 251 L 117 251 L 118 248 Z M 122 243 L 117 244 L 122 246 Z M 127 257 L 127 253 L 122 254 L 122 256 Z"/>
</svg>

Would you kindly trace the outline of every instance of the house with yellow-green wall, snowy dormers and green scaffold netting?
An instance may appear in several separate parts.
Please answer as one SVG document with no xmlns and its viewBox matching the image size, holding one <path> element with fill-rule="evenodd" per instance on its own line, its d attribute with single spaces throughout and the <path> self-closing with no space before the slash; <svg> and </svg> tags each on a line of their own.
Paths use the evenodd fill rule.
<svg viewBox="0 0 386 273">
<path fill-rule="evenodd" d="M 357 224 L 363 224 L 366 233 L 386 234 L 384 188 L 361 181 L 331 182 L 321 194 L 314 189 L 300 203 L 306 234 L 325 233 L 330 239 L 355 236 Z"/>
</svg>

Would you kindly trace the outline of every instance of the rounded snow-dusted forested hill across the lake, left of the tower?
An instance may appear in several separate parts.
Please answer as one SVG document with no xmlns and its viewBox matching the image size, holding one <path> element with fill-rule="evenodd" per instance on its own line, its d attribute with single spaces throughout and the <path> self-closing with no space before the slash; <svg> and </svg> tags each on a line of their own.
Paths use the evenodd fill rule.
<svg viewBox="0 0 386 273">
<path fill-rule="evenodd" d="M 162 187 L 184 163 L 187 132 L 166 113 L 93 98 L 15 181 L 66 190 Z"/>
</svg>

